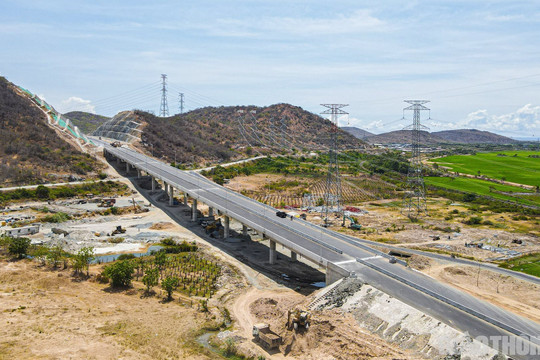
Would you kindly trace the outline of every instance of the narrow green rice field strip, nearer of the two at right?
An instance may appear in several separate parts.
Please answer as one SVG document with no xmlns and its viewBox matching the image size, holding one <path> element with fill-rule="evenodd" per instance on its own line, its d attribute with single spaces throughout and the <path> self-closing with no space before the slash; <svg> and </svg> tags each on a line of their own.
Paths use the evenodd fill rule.
<svg viewBox="0 0 540 360">
<path fill-rule="evenodd" d="M 495 199 L 510 200 L 524 205 L 540 206 L 540 194 L 517 186 L 495 184 L 491 181 L 466 177 L 426 177 L 424 180 L 426 185 L 487 195 Z M 492 190 L 508 194 L 500 194 L 498 192 L 493 192 Z M 516 193 L 516 195 L 512 195 L 511 193 Z M 519 195 L 517 195 L 518 193 Z M 531 195 L 521 195 L 522 193 L 530 193 Z"/>
</svg>

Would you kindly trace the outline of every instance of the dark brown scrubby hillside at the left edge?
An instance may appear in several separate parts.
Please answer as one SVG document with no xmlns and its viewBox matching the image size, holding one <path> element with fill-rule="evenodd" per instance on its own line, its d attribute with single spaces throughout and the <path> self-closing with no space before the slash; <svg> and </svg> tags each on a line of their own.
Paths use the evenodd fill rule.
<svg viewBox="0 0 540 360">
<path fill-rule="evenodd" d="M 0 185 L 63 180 L 100 169 L 94 158 L 47 123 L 39 107 L 0 77 Z"/>
</svg>

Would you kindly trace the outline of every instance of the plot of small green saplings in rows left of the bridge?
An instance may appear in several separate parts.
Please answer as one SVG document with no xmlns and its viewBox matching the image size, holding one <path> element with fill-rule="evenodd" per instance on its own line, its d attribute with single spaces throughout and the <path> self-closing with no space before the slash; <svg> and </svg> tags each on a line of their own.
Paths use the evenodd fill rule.
<svg viewBox="0 0 540 360">
<path fill-rule="evenodd" d="M 215 283 L 220 274 L 216 263 L 194 254 L 167 255 L 157 253 L 154 258 L 138 258 L 135 264 L 137 280 L 148 270 L 158 269 L 159 281 L 168 277 L 179 280 L 178 290 L 191 296 L 210 298 L 215 292 Z"/>
</svg>

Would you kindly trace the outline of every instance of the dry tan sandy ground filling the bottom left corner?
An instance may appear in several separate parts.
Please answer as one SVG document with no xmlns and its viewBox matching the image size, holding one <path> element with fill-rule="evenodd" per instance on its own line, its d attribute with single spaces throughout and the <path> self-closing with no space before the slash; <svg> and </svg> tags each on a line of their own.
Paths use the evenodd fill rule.
<svg viewBox="0 0 540 360">
<path fill-rule="evenodd" d="M 75 281 L 68 271 L 0 262 L 2 359 L 211 359 L 191 342 L 195 307 Z"/>
</svg>

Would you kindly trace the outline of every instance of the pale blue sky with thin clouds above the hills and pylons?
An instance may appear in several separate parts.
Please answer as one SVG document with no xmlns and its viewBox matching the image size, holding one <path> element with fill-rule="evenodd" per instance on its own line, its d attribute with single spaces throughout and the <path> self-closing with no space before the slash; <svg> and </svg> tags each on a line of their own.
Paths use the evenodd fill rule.
<svg viewBox="0 0 540 360">
<path fill-rule="evenodd" d="M 60 112 L 290 103 L 374 133 L 540 136 L 539 1 L 2 0 L 0 75 Z M 404 116 L 404 118 L 403 118 Z"/>
</svg>

